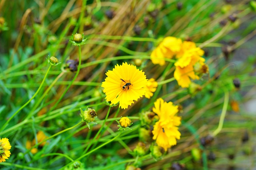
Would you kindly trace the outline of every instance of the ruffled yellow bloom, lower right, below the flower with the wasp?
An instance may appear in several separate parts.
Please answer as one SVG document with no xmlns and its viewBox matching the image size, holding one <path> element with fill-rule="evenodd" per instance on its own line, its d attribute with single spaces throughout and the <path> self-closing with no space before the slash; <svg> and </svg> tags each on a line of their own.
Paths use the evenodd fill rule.
<svg viewBox="0 0 256 170">
<path fill-rule="evenodd" d="M 178 113 L 178 106 L 173 106 L 172 102 L 164 102 L 161 98 L 154 102 L 154 106 L 153 111 L 158 115 L 159 121 L 154 125 L 153 139 L 166 151 L 176 145 L 176 139 L 180 139 L 178 126 L 181 118 L 175 116 Z"/>
</svg>

